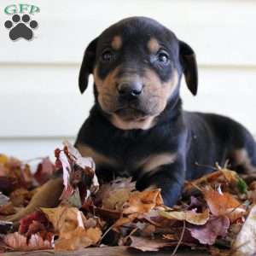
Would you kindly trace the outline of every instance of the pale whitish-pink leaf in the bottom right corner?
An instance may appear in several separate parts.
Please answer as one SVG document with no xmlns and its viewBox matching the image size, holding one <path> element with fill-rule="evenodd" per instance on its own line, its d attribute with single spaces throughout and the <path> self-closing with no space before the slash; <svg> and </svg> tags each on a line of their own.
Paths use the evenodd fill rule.
<svg viewBox="0 0 256 256">
<path fill-rule="evenodd" d="M 236 256 L 250 256 L 256 252 L 256 206 L 254 205 L 233 244 Z"/>
</svg>

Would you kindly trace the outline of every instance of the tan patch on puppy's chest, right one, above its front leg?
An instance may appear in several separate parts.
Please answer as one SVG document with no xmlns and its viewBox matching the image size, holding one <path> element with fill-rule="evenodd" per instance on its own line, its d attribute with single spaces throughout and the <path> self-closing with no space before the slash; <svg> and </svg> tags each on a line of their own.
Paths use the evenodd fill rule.
<svg viewBox="0 0 256 256">
<path fill-rule="evenodd" d="M 142 160 L 138 167 L 142 168 L 142 175 L 148 172 L 157 172 L 160 166 L 170 165 L 177 160 L 176 153 L 152 154 Z"/>
</svg>

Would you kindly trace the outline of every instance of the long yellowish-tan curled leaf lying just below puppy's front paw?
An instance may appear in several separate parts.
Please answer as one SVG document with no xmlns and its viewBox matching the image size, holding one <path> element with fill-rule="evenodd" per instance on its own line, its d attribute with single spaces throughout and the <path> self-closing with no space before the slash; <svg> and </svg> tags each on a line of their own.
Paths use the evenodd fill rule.
<svg viewBox="0 0 256 256">
<path fill-rule="evenodd" d="M 165 212 L 159 211 L 160 216 L 165 218 L 172 218 L 177 220 L 185 220 L 190 224 L 203 225 L 207 223 L 207 220 L 210 218 L 209 210 L 204 212 L 195 212 L 195 211 L 186 211 L 186 212 Z"/>
</svg>

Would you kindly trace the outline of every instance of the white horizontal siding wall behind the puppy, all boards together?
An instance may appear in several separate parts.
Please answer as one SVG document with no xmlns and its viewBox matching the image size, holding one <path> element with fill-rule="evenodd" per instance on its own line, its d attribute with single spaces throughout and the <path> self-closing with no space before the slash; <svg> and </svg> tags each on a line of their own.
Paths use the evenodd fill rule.
<svg viewBox="0 0 256 256">
<path fill-rule="evenodd" d="M 189 43 L 199 63 L 199 95 L 183 84 L 184 108 L 227 114 L 256 134 L 256 2 L 248 0 L 26 1 L 38 5 L 31 42 L 12 42 L 0 3 L 0 152 L 52 155 L 73 141 L 92 105 L 79 94 L 79 64 L 90 40 L 131 15 L 159 20 Z"/>
</svg>

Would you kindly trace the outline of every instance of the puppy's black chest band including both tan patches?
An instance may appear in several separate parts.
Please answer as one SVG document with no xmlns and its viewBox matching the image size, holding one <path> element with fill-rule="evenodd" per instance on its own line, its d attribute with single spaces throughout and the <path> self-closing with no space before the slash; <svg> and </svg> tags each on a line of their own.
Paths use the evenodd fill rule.
<svg viewBox="0 0 256 256">
<path fill-rule="evenodd" d="M 119 177 L 142 176 L 148 172 L 156 172 L 161 166 L 172 164 L 177 154 L 171 151 L 151 151 L 148 148 L 131 147 L 119 149 L 113 154 L 99 152 L 87 145 L 78 145 L 83 156 L 90 156 L 96 162 L 96 172 Z M 108 173 L 104 173 L 108 172 Z"/>
</svg>

